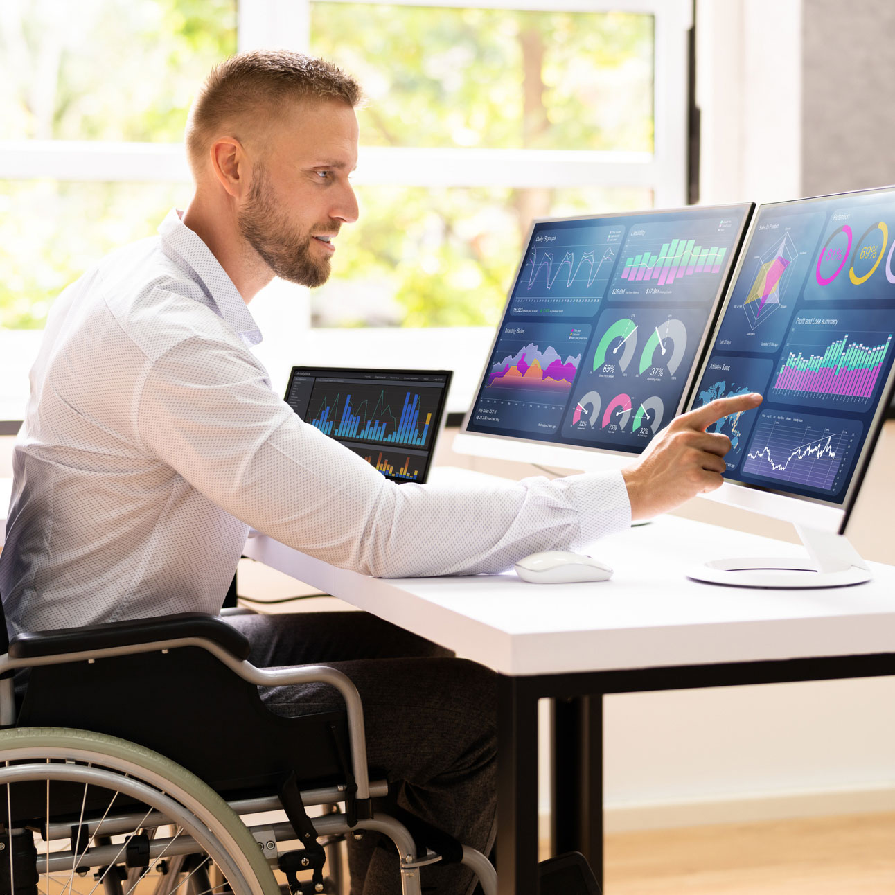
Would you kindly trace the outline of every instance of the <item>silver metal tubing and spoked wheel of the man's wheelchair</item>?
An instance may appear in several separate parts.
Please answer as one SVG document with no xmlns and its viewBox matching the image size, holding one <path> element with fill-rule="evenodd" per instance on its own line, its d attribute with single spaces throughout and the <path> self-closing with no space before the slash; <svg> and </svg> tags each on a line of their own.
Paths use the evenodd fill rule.
<svg viewBox="0 0 895 895">
<path fill-rule="evenodd" d="M 219 625 L 224 625 L 219 619 L 215 619 L 215 621 Z M 175 840 L 179 841 L 171 842 L 169 841 L 170 837 L 168 839 L 156 837 L 146 845 L 145 850 L 148 858 L 144 858 L 144 860 L 148 859 L 154 862 L 152 866 L 158 867 L 160 862 L 170 861 L 173 868 L 174 862 L 178 860 L 179 856 L 189 856 L 198 850 L 208 855 L 214 853 L 217 856 L 213 858 L 214 863 L 226 865 L 225 875 L 230 881 L 230 887 L 235 895 L 243 895 L 243 892 L 246 895 L 278 895 L 279 890 L 269 871 L 269 867 L 273 865 L 279 865 L 280 869 L 286 871 L 290 888 L 294 893 L 323 891 L 319 866 L 312 868 L 314 875 L 310 884 L 300 883 L 297 880 L 296 872 L 310 866 L 308 850 L 299 848 L 292 852 L 281 852 L 279 848 L 279 844 L 283 842 L 296 839 L 302 841 L 300 834 L 303 831 L 305 839 L 310 840 L 311 832 L 309 830 L 311 828 L 303 826 L 303 823 L 310 820 L 312 835 L 318 839 L 320 837 L 357 835 L 361 831 L 377 831 L 385 835 L 395 844 L 398 851 L 403 895 L 421 895 L 420 867 L 436 863 L 441 860 L 442 856 L 430 848 L 418 845 L 414 840 L 413 833 L 407 829 L 404 823 L 400 823 L 388 814 L 371 810 L 371 798 L 384 797 L 388 793 L 388 783 L 385 780 L 372 782 L 370 780 L 362 703 L 350 678 L 341 671 L 325 665 L 301 666 L 294 669 L 258 669 L 249 661 L 240 660 L 225 646 L 207 636 L 161 636 L 149 639 L 148 642 L 90 647 L 91 639 L 95 643 L 102 644 L 104 632 L 107 633 L 111 627 L 113 626 L 100 625 L 76 632 L 19 635 L 13 638 L 9 652 L 0 656 L 0 726 L 6 728 L 0 730 L 0 791 L 6 785 L 7 793 L 9 793 L 8 785 L 13 780 L 46 780 L 48 809 L 49 780 L 52 778 L 65 780 L 67 784 L 77 782 L 78 785 L 81 785 L 82 783 L 85 802 L 88 785 L 102 785 L 106 788 L 117 787 L 117 791 L 128 790 L 129 797 L 139 797 L 144 805 L 149 805 L 150 809 L 148 814 L 139 819 L 133 816 L 129 817 L 127 813 L 124 816 L 115 813 L 113 817 L 104 815 L 100 822 L 93 822 L 92 827 L 90 824 L 85 824 L 83 847 L 81 847 L 80 823 L 72 825 L 68 823 L 71 819 L 68 819 L 68 821 L 62 822 L 61 826 L 53 825 L 47 818 L 47 824 L 42 831 L 47 842 L 47 849 L 50 840 L 58 841 L 56 837 L 64 840 L 66 833 L 68 834 L 67 838 L 71 841 L 71 847 L 68 851 L 54 852 L 52 858 L 48 851 L 44 858 L 38 857 L 38 871 L 42 868 L 44 873 L 50 874 L 54 866 L 65 868 L 70 866 L 71 881 L 73 881 L 74 874 L 81 874 L 87 865 L 100 868 L 117 865 L 123 854 L 123 849 L 130 848 L 128 842 L 132 842 L 132 839 L 126 839 L 128 832 L 133 838 L 135 835 L 143 835 L 138 833 L 139 830 L 158 830 L 164 827 L 163 821 L 172 823 L 174 820 L 178 825 Z M 120 628 L 120 625 L 117 627 Z M 140 639 L 140 627 L 140 621 L 129 623 L 129 629 L 132 632 L 138 632 L 137 639 Z M 87 645 L 88 648 L 70 648 L 72 635 L 78 635 L 80 643 Z M 97 635 L 99 635 L 98 639 Z M 120 637 L 113 639 L 121 640 Z M 105 642 L 108 642 L 108 637 Z M 323 814 L 309 819 L 302 811 L 303 818 L 296 820 L 294 813 L 289 811 L 289 805 L 284 805 L 284 801 L 277 795 L 235 799 L 227 803 L 190 771 L 186 771 L 180 765 L 170 762 L 143 746 L 90 731 L 14 727 L 16 702 L 13 672 L 17 669 L 35 669 L 81 662 L 92 664 L 108 658 L 151 652 L 167 653 L 186 647 L 197 647 L 209 652 L 236 676 L 255 686 L 323 683 L 337 689 L 345 701 L 349 761 L 353 772 L 354 786 L 338 784 L 304 789 L 300 793 L 299 805 L 338 805 L 341 806 L 339 813 Z M 62 652 L 55 652 L 59 648 Z M 114 742 L 110 745 L 109 741 L 113 740 Z M 79 743 L 81 744 L 80 748 L 77 747 Z M 114 753 L 114 756 L 110 757 L 109 750 Z M 111 767 L 106 766 L 109 763 L 112 765 Z M 149 779 L 140 780 L 144 776 L 148 776 Z M 94 783 L 93 780 L 97 782 Z M 136 785 L 135 780 L 141 782 L 143 788 Z M 179 794 L 175 800 L 181 807 L 172 805 L 169 801 L 166 802 L 164 796 L 169 796 L 171 789 Z M 370 810 L 363 810 L 358 813 L 359 816 L 355 817 L 352 800 L 367 806 Z M 3 874 L 5 874 L 2 852 L 2 843 L 5 839 L 9 849 L 9 878 L 13 879 L 14 830 L 12 807 L 10 806 L 12 797 L 7 797 L 6 802 L 10 813 L 10 823 L 5 823 L 6 819 L 0 816 L 0 824 L 7 827 L 4 834 L 0 834 L 0 870 L 3 870 Z M 261 823 L 246 827 L 239 820 L 240 814 L 277 811 L 283 808 L 286 808 L 289 817 L 287 822 Z M 81 820 L 83 814 L 84 807 L 81 805 Z M 107 809 L 107 814 L 109 814 L 109 809 Z M 192 821 L 190 815 L 192 815 Z M 113 818 L 115 823 L 113 823 Z M 140 826 L 135 827 L 132 831 L 129 830 L 129 827 L 138 820 Z M 186 836 L 183 835 L 184 829 L 187 830 Z M 111 836 L 118 835 L 120 838 L 122 834 L 125 834 L 123 847 L 111 842 L 106 843 Z M 28 840 L 27 833 L 25 840 Z M 218 845 L 211 840 L 216 840 Z M 25 844 L 27 846 L 27 842 Z M 310 844 L 310 842 L 302 842 L 302 844 Z M 117 854 L 115 853 L 116 848 L 119 849 Z M 320 846 L 316 846 L 316 848 L 320 850 Z M 130 852 L 128 852 L 129 855 Z M 159 855 L 163 857 L 158 857 Z M 291 861 L 290 856 L 293 857 Z M 497 895 L 497 875 L 486 857 L 472 848 L 463 846 L 460 860 L 478 877 L 485 895 Z M 104 862 L 107 863 L 104 864 Z M 138 874 L 133 872 L 133 863 L 130 857 L 125 864 L 130 868 L 127 876 L 130 881 Z M 143 873 L 148 873 L 148 870 L 144 870 Z M 195 873 L 196 871 L 192 872 L 192 874 Z M 192 874 L 187 879 L 191 879 Z M 116 872 L 114 875 L 120 875 L 120 872 Z M 108 882 L 107 880 L 108 871 L 101 880 L 106 895 L 127 895 L 127 892 L 123 891 L 115 879 L 108 880 Z M 68 886 L 69 895 L 72 895 L 71 881 Z M 188 884 L 187 891 L 192 895 L 201 895 L 196 882 L 194 880 L 192 885 Z M 100 882 L 97 883 L 97 886 L 99 884 Z M 171 895 L 171 892 L 179 889 L 183 882 L 178 883 L 174 889 L 171 888 L 173 885 L 173 879 L 158 881 L 157 895 Z M 97 886 L 94 886 L 94 889 Z M 10 887 L 9 881 L 4 882 L 0 876 L 0 891 L 11 891 L 11 888 L 14 895 L 16 893 L 14 880 Z M 63 886 L 62 895 L 66 895 L 64 890 L 65 886 Z M 47 886 L 47 891 L 52 891 L 49 886 Z"/>
</svg>

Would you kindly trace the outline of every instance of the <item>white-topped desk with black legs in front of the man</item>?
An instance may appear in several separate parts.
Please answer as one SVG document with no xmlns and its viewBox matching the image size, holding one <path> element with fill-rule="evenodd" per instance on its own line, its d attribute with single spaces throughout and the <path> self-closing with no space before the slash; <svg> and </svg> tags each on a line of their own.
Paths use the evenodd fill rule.
<svg viewBox="0 0 895 895">
<path fill-rule="evenodd" d="M 616 568 L 611 581 L 563 585 L 513 574 L 372 579 L 264 536 L 245 552 L 499 672 L 500 892 L 534 895 L 539 698 L 577 700 L 556 703 L 554 847 L 584 851 L 599 876 L 603 694 L 895 674 L 895 567 L 817 591 L 686 578 L 704 559 L 798 550 L 664 517 L 596 545 Z"/>
</svg>

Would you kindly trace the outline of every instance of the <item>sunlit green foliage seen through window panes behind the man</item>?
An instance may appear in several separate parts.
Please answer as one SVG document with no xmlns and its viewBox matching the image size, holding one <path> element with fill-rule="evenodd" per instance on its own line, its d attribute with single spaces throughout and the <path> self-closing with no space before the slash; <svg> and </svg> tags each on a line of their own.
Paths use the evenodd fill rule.
<svg viewBox="0 0 895 895">
<path fill-rule="evenodd" d="M 0 0 L 7 139 L 179 142 L 235 51 L 236 0 Z M 311 51 L 368 98 L 362 146 L 652 151 L 652 17 L 311 4 Z M 363 150 L 362 150 L 363 151 Z M 4 181 L 0 326 L 40 328 L 104 253 L 154 234 L 188 184 Z M 648 191 L 358 189 L 320 325 L 492 324 L 533 217 L 652 204 Z"/>
</svg>

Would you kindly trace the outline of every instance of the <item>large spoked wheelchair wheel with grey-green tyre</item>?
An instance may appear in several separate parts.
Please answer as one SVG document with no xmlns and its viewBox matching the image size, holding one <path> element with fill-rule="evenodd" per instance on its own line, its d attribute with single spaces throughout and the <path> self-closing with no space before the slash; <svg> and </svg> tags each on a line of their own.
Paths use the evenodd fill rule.
<svg viewBox="0 0 895 895">
<path fill-rule="evenodd" d="M 259 843 L 190 771 L 87 730 L 0 731 L 2 895 L 279 895 Z"/>
</svg>

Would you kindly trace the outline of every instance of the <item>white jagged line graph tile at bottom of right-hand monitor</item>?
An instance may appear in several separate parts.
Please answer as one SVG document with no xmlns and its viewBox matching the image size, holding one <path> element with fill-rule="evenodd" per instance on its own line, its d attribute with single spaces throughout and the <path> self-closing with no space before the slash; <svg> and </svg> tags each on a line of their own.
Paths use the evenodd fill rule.
<svg viewBox="0 0 895 895">
<path fill-rule="evenodd" d="M 861 424 L 832 417 L 764 411 L 743 472 L 803 488 L 835 492 L 857 449 Z"/>
</svg>

